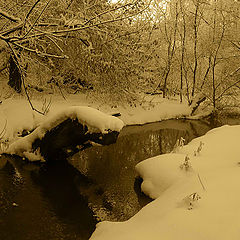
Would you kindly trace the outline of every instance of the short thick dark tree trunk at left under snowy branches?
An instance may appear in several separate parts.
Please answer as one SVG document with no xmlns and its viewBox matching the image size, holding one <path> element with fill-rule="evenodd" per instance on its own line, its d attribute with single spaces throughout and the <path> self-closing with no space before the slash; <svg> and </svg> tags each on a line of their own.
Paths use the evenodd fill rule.
<svg viewBox="0 0 240 240">
<path fill-rule="evenodd" d="M 12 87 L 16 92 L 21 92 L 22 78 L 19 68 L 14 60 L 13 56 L 9 59 L 9 81 L 8 85 Z"/>
</svg>

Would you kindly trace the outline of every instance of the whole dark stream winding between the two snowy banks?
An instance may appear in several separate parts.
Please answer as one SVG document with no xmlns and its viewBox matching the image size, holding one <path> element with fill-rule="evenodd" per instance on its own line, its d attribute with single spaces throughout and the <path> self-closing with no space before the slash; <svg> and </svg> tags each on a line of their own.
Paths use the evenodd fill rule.
<svg viewBox="0 0 240 240">
<path fill-rule="evenodd" d="M 130 218 L 150 201 L 140 191 L 135 165 L 214 126 L 169 120 L 125 127 L 117 143 L 86 149 L 68 162 L 38 165 L 2 156 L 0 239 L 85 240 L 98 221 Z"/>
</svg>

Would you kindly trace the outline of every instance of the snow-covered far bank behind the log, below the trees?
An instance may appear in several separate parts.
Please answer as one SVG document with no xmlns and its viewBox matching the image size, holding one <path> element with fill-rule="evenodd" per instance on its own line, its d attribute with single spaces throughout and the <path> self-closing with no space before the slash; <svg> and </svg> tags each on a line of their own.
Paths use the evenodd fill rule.
<svg viewBox="0 0 240 240">
<path fill-rule="evenodd" d="M 0 104 L 0 133 L 4 130 L 4 134 L 0 136 L 2 140 L 13 142 L 21 135 L 22 131 L 31 131 L 44 121 L 45 118 L 63 111 L 70 106 L 89 106 L 96 108 L 104 113 L 120 113 L 119 117 L 125 125 L 145 124 L 172 118 L 180 118 L 188 116 L 191 112 L 189 106 L 185 103 L 180 104 L 174 100 L 156 98 L 155 102 L 144 106 L 119 106 L 111 108 L 107 105 L 101 105 L 92 102 L 84 95 L 71 95 L 67 100 L 55 97 L 46 97 L 41 100 L 33 100 L 34 107 L 40 111 L 46 110 L 49 104 L 49 111 L 43 116 L 36 111 L 32 111 L 28 101 L 24 98 L 15 98 L 4 100 Z M 149 99 L 149 101 L 151 101 Z"/>
</svg>

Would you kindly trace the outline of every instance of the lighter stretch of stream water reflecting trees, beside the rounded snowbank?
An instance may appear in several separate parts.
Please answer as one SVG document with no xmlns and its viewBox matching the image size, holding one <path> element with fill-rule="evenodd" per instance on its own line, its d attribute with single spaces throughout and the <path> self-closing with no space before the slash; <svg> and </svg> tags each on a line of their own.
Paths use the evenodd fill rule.
<svg viewBox="0 0 240 240">
<path fill-rule="evenodd" d="M 176 125 L 172 122 L 164 123 L 168 128 L 164 124 L 157 129 L 146 125 L 149 128 L 147 131 L 144 131 L 144 126 L 134 127 L 131 134 L 120 134 L 113 145 L 85 149 L 69 159 L 80 172 L 103 189 L 100 200 L 99 196 L 88 197 L 90 208 L 101 220 L 126 220 L 141 209 L 142 202 L 149 202 L 143 201 L 144 196 L 136 187 L 137 163 L 171 152 L 181 137 L 187 143 L 210 129 L 194 121 L 192 124 L 191 121 L 175 121 Z"/>
</svg>

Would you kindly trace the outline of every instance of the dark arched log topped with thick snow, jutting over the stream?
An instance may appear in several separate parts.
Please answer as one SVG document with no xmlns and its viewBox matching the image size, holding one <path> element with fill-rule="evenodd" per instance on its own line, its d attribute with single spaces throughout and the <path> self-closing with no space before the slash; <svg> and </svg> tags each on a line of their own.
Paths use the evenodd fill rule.
<svg viewBox="0 0 240 240">
<path fill-rule="evenodd" d="M 68 107 L 45 119 L 31 134 L 12 143 L 7 154 L 30 161 L 67 157 L 78 145 L 116 142 L 124 123 L 113 116 L 86 106 Z"/>
</svg>

